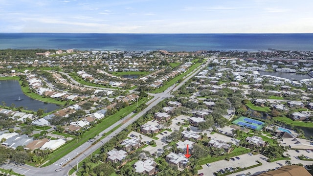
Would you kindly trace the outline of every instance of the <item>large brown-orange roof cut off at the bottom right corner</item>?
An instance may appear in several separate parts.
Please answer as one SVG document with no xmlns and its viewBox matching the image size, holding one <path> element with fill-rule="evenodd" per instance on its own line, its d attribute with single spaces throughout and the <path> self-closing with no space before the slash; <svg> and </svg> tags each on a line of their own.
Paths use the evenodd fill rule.
<svg viewBox="0 0 313 176">
<path fill-rule="evenodd" d="M 258 176 L 312 176 L 303 166 L 282 166 L 274 171 L 264 172 Z"/>
</svg>

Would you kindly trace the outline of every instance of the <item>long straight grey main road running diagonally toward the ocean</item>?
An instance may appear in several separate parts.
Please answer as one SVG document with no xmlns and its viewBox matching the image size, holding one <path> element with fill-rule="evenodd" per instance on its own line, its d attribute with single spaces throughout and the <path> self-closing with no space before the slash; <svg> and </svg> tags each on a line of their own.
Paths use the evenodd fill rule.
<svg viewBox="0 0 313 176">
<path fill-rule="evenodd" d="M 91 142 L 86 142 L 86 143 L 82 144 L 80 147 L 78 147 L 75 150 L 73 150 L 72 152 L 70 152 L 69 154 L 67 154 L 66 156 L 64 156 L 63 158 L 59 159 L 57 162 L 51 163 L 51 165 L 43 167 L 43 168 L 36 168 L 36 167 L 28 166 L 28 165 L 16 166 L 14 164 L 5 164 L 5 165 L 2 165 L 1 168 L 12 169 L 14 172 L 25 175 L 25 176 L 41 176 L 41 175 L 64 176 L 64 175 L 67 175 L 68 171 L 71 168 L 76 167 L 76 162 L 80 162 L 83 159 L 85 159 L 86 157 L 89 157 L 89 155 L 91 155 L 91 153 L 93 151 L 100 148 L 103 144 L 108 142 L 110 140 L 110 138 L 116 136 L 119 132 L 121 132 L 123 129 L 125 129 L 129 124 L 132 124 L 139 117 L 144 115 L 148 110 L 150 110 L 152 107 L 156 106 L 157 103 L 159 103 L 160 101 L 162 101 L 165 98 L 171 97 L 172 96 L 170 94 L 171 91 L 175 91 L 175 90 L 179 89 L 190 78 L 192 78 L 194 75 L 199 73 L 201 71 L 201 69 L 203 69 L 205 66 L 207 66 L 212 59 L 215 59 L 215 58 L 216 58 L 216 56 L 212 56 L 211 58 L 209 58 L 207 60 L 206 64 L 202 65 L 199 69 L 194 70 L 193 72 L 186 75 L 184 80 L 182 82 L 180 82 L 179 84 L 173 85 L 161 93 L 153 94 L 154 98 L 146 103 L 147 104 L 146 109 L 140 111 L 133 118 L 128 119 L 129 121 L 127 123 L 123 124 L 121 127 L 119 127 L 114 132 L 112 132 L 109 136 L 106 136 L 105 138 L 103 138 L 101 141 L 99 141 L 95 145 L 91 145 Z M 65 74 L 65 73 L 63 73 L 63 74 Z M 91 88 L 93 88 L 93 87 L 91 87 Z M 131 115 L 132 114 L 128 115 L 126 118 L 129 118 Z M 103 133 L 110 132 L 113 128 L 115 128 L 116 126 L 121 124 L 124 120 L 125 120 L 125 118 L 114 123 L 112 126 L 107 128 L 103 132 L 100 132 L 99 136 L 102 136 Z M 67 157 L 75 158 L 75 159 L 71 159 L 71 160 L 66 162 L 65 159 Z M 58 164 L 60 164 L 62 162 L 65 164 L 62 167 L 59 167 Z M 55 172 L 55 170 L 58 168 L 62 168 L 62 170 L 59 172 Z"/>
</svg>

